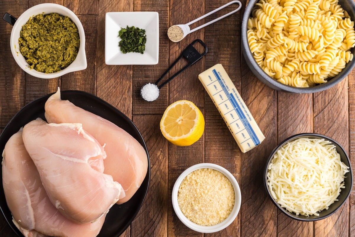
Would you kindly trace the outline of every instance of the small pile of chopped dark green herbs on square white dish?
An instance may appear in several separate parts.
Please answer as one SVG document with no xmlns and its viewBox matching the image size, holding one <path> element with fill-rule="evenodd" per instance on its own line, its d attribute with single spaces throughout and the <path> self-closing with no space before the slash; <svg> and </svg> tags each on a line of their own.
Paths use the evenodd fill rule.
<svg viewBox="0 0 355 237">
<path fill-rule="evenodd" d="M 118 36 L 121 38 L 118 46 L 122 53 L 135 52 L 143 54 L 144 50 L 146 50 L 147 36 L 145 29 L 127 26 L 118 32 Z"/>
</svg>

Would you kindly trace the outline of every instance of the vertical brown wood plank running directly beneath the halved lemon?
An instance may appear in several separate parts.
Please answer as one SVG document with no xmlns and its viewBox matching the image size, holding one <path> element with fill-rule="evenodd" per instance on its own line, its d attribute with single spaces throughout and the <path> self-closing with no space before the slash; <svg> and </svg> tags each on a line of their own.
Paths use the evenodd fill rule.
<svg viewBox="0 0 355 237">
<path fill-rule="evenodd" d="M 205 1 L 170 1 L 169 8 L 169 27 L 176 24 L 184 24 L 195 18 L 204 15 L 203 6 Z M 188 12 L 188 14 L 184 14 Z M 167 31 L 167 29 L 166 29 Z M 204 29 L 195 31 L 186 36 L 180 42 L 169 41 L 169 65 L 171 65 L 182 51 L 192 43 L 195 39 L 200 38 L 204 40 Z M 197 48 L 196 44 L 196 48 Z M 201 50 L 201 48 L 198 48 Z M 180 70 L 187 64 L 185 59 L 181 59 L 175 67 L 170 71 L 169 77 Z M 204 88 L 198 80 L 198 74 L 204 71 L 204 59 L 198 61 L 190 68 L 182 72 L 174 80 L 170 81 L 169 97 L 167 97 L 169 104 L 187 99 L 192 101 L 201 109 L 204 114 Z M 168 236 L 202 236 L 202 233 L 191 230 L 186 227 L 176 216 L 171 205 L 171 191 L 178 176 L 188 167 L 204 161 L 204 135 L 202 138 L 188 147 L 178 147 L 169 143 L 169 208 L 168 208 Z"/>
</svg>

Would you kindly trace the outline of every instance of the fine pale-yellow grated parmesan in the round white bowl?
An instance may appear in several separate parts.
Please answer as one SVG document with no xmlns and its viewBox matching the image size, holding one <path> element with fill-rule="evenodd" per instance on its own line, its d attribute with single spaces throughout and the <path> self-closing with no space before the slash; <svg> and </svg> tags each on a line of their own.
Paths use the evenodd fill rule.
<svg viewBox="0 0 355 237">
<path fill-rule="evenodd" d="M 222 222 L 233 209 L 234 188 L 221 172 L 203 168 L 188 174 L 178 191 L 182 213 L 192 222 L 212 226 Z"/>
</svg>

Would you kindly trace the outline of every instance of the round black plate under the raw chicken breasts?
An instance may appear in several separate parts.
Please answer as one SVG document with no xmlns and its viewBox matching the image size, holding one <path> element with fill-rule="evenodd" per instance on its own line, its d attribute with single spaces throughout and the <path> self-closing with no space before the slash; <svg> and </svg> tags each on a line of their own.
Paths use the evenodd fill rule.
<svg viewBox="0 0 355 237">
<path fill-rule="evenodd" d="M 47 95 L 43 96 L 39 99 L 32 101 L 31 103 L 24 106 L 6 125 L 4 131 L 2 131 L 0 135 L 0 153 L 4 150 L 6 142 L 9 138 L 17 133 L 18 130 L 28 122 L 36 118 L 44 117 L 44 104 L 49 98 Z M 73 104 L 87 111 L 90 111 L 94 114 L 105 118 L 112 123 L 118 125 L 120 128 L 127 131 L 127 133 L 131 134 L 133 138 L 135 138 L 146 150 L 148 157 L 148 171 L 147 175 L 144 178 L 144 181 L 141 187 L 137 190 L 135 195 L 132 198 L 123 204 L 115 204 L 111 207 L 108 212 L 104 225 L 97 237 L 115 237 L 121 235 L 127 227 L 131 224 L 135 216 L 137 215 L 139 209 L 142 206 L 144 198 L 146 197 L 149 178 L 150 178 L 150 161 L 149 154 L 146 147 L 146 144 L 142 138 L 142 135 L 138 131 L 137 127 L 133 122 L 123 113 L 121 113 L 118 109 L 111 106 L 109 103 L 103 101 L 102 99 L 89 94 L 87 92 L 82 91 L 62 91 L 61 98 L 64 100 L 69 100 Z M 0 169 L 1 180 L 2 180 L 2 170 Z M 2 182 L 1 182 L 2 183 Z M 12 230 L 16 232 L 18 236 L 23 237 L 21 232 L 16 228 L 16 226 L 12 222 L 12 215 L 7 207 L 4 189 L 2 189 L 2 185 L 0 188 L 0 209 L 2 214 L 4 214 L 7 223 L 11 226 Z"/>
</svg>

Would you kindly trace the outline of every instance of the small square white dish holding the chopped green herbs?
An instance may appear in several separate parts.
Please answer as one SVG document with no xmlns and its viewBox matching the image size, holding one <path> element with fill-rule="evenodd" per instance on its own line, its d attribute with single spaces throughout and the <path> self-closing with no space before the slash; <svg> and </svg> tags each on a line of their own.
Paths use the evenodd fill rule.
<svg viewBox="0 0 355 237">
<path fill-rule="evenodd" d="M 146 49 L 141 53 L 122 53 L 118 32 L 135 26 L 146 30 Z M 159 60 L 158 12 L 107 12 L 105 18 L 105 63 L 107 65 L 152 65 Z"/>
</svg>

